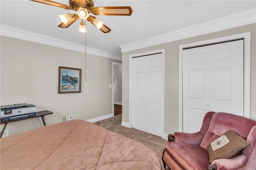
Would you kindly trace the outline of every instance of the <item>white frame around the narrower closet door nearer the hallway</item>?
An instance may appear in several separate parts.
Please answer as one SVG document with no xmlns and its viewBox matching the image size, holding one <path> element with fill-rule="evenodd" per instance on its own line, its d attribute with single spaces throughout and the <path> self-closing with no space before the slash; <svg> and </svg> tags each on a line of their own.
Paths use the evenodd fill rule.
<svg viewBox="0 0 256 170">
<path fill-rule="evenodd" d="M 132 58 L 144 55 L 153 55 L 155 53 L 162 53 L 162 113 L 160 113 L 160 119 L 162 125 L 160 127 L 161 137 L 164 138 L 164 49 L 159 49 L 155 51 L 147 51 L 144 53 L 137 53 L 129 55 L 129 128 L 132 128 Z M 127 126 L 126 126 L 127 127 Z"/>
</svg>

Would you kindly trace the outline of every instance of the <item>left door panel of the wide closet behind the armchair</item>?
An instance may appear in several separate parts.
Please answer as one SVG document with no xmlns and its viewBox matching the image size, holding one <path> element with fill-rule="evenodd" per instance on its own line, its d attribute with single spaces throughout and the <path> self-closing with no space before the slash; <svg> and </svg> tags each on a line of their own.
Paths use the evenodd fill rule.
<svg viewBox="0 0 256 170">
<path fill-rule="evenodd" d="M 183 131 L 196 132 L 209 110 L 208 47 L 183 51 Z"/>
</svg>

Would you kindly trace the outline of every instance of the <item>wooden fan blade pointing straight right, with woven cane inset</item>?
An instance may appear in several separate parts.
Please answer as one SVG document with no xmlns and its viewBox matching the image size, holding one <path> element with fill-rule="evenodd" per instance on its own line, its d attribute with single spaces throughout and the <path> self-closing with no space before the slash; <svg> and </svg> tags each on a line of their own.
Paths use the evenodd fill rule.
<svg viewBox="0 0 256 170">
<path fill-rule="evenodd" d="M 105 7 L 92 7 L 91 12 L 94 15 L 127 15 L 132 14 L 130 6 L 105 6 Z"/>
</svg>

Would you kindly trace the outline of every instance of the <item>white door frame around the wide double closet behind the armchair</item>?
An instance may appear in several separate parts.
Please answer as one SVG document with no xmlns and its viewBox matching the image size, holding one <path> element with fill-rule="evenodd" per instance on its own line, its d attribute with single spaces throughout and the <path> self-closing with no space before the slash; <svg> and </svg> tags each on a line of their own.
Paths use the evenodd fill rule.
<svg viewBox="0 0 256 170">
<path fill-rule="evenodd" d="M 211 43 L 225 42 L 244 38 L 244 117 L 250 119 L 250 65 L 251 65 L 251 33 L 246 32 L 232 36 L 179 45 L 179 132 L 183 132 L 183 48 Z"/>
</svg>

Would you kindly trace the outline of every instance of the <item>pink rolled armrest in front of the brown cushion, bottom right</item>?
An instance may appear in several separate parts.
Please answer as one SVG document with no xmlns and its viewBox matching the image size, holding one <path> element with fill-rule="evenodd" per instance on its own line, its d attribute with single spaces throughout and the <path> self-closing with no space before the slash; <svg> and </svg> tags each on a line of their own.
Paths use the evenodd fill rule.
<svg viewBox="0 0 256 170">
<path fill-rule="evenodd" d="M 212 161 L 211 166 L 216 167 L 216 169 L 207 169 L 207 170 L 237 170 L 242 168 L 246 164 L 246 156 L 239 155 L 228 159 L 217 159 Z M 210 165 L 208 165 L 209 167 Z"/>
</svg>

